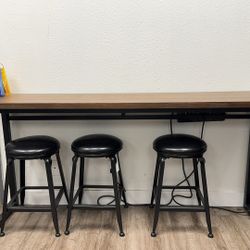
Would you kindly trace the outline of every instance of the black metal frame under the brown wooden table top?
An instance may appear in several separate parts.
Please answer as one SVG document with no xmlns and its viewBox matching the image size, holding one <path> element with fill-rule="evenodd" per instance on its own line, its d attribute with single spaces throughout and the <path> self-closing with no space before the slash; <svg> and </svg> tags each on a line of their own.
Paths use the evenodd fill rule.
<svg viewBox="0 0 250 250">
<path fill-rule="evenodd" d="M 180 122 L 249 119 L 250 108 L 161 108 L 161 109 L 2 109 L 5 145 L 11 141 L 11 121 L 15 120 L 168 120 Z M 250 140 L 245 178 L 244 207 L 250 215 Z M 15 168 L 12 167 L 10 196 L 17 191 Z M 11 215 L 11 212 L 9 213 Z M 1 217 L 0 217 L 1 218 Z"/>
</svg>

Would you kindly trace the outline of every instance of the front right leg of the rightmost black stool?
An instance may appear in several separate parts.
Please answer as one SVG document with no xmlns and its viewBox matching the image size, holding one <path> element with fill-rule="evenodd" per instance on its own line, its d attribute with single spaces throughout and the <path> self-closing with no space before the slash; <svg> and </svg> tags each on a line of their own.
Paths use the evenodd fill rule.
<svg viewBox="0 0 250 250">
<path fill-rule="evenodd" d="M 208 192 L 207 192 L 207 178 L 206 178 L 206 170 L 205 170 L 205 159 L 200 158 L 200 165 L 201 165 L 201 178 L 202 178 L 202 186 L 203 186 L 203 193 L 204 193 L 204 207 L 206 212 L 206 220 L 207 220 L 207 227 L 208 227 L 208 237 L 213 238 L 212 227 L 211 227 L 211 219 L 210 219 L 210 210 L 209 210 L 209 201 L 208 201 Z"/>
</svg>

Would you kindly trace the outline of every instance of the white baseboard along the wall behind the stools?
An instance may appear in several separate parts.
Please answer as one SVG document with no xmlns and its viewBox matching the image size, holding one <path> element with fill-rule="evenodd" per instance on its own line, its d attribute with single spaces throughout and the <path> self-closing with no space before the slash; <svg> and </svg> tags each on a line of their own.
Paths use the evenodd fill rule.
<svg viewBox="0 0 250 250">
<path fill-rule="evenodd" d="M 188 191 L 176 190 L 176 194 L 189 195 Z M 89 189 L 84 191 L 83 202 L 89 204 L 96 204 L 96 200 L 101 195 L 113 195 L 112 190 L 96 190 Z M 131 204 L 145 204 L 150 202 L 151 190 L 127 190 L 126 197 Z M 210 192 L 210 205 L 211 206 L 243 206 L 243 193 L 237 192 Z M 162 203 L 167 203 L 170 198 L 170 191 L 164 190 L 162 192 Z M 110 199 L 103 199 L 102 202 L 108 202 Z M 184 204 L 196 204 L 196 196 L 192 199 L 177 198 L 178 201 Z M 27 190 L 26 191 L 26 204 L 49 204 L 49 195 L 46 190 Z M 62 198 L 60 204 L 66 204 L 65 197 Z"/>
</svg>

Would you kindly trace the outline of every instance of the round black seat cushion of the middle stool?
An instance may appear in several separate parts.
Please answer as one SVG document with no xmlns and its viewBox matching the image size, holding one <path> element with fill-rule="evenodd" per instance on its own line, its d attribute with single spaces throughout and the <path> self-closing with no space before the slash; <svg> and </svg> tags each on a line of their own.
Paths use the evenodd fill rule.
<svg viewBox="0 0 250 250">
<path fill-rule="evenodd" d="M 112 135 L 91 134 L 73 141 L 71 149 L 80 157 L 107 157 L 122 149 L 122 141 Z"/>
</svg>

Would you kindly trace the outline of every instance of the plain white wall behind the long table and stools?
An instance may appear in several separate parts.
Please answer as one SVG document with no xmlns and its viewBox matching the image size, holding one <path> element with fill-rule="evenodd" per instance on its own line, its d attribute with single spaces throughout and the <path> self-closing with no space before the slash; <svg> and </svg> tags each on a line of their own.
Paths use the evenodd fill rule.
<svg viewBox="0 0 250 250">
<path fill-rule="evenodd" d="M 2 1 L 0 16 L 0 62 L 15 93 L 250 90 L 248 0 L 10 0 Z M 199 124 L 176 126 L 199 134 Z M 60 139 L 67 180 L 71 141 L 96 132 L 121 137 L 130 202 L 148 201 L 155 160 L 152 141 L 169 132 L 167 122 L 14 124 L 14 138 L 39 133 Z M 208 124 L 212 204 L 242 205 L 248 135 L 248 121 Z M 88 171 L 88 179 L 108 180 L 101 176 L 105 169 L 98 168 L 96 175 L 96 168 Z M 171 182 L 181 178 L 179 170 L 174 161 L 169 163 Z M 43 175 L 37 167 L 27 177 L 40 183 Z M 34 202 L 34 196 L 29 199 Z"/>
</svg>

